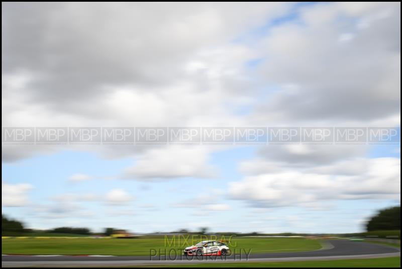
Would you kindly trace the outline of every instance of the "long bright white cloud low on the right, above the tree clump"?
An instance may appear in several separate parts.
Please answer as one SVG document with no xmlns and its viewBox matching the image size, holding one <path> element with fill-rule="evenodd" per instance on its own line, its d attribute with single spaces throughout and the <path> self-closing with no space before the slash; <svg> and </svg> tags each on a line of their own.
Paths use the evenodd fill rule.
<svg viewBox="0 0 402 269">
<path fill-rule="evenodd" d="M 320 201 L 400 199 L 399 158 L 281 168 L 230 183 L 230 196 L 256 207 L 317 207 Z"/>
</svg>

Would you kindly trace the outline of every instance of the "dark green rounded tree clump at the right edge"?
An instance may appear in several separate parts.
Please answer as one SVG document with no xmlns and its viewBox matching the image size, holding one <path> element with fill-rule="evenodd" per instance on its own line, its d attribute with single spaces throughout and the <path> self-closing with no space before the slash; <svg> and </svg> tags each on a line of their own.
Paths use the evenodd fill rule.
<svg viewBox="0 0 402 269">
<path fill-rule="evenodd" d="M 366 225 L 366 230 L 400 230 L 400 206 L 378 211 Z"/>
</svg>

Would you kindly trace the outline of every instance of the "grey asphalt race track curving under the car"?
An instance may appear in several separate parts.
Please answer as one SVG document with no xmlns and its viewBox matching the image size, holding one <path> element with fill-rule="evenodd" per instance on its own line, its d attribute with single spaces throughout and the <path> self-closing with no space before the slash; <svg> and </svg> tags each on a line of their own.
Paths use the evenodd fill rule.
<svg viewBox="0 0 402 269">
<path fill-rule="evenodd" d="M 247 249 L 246 249 L 247 250 Z M 249 251 L 249 250 L 247 250 Z M 351 259 L 400 256 L 400 249 L 391 246 L 355 242 L 349 240 L 328 240 L 322 249 L 304 252 L 281 253 L 232 253 L 229 256 L 57 256 L 57 255 L 5 255 L 2 267 L 13 266 L 129 266 L 171 263 L 237 262 L 237 261 L 289 261 Z"/>
</svg>

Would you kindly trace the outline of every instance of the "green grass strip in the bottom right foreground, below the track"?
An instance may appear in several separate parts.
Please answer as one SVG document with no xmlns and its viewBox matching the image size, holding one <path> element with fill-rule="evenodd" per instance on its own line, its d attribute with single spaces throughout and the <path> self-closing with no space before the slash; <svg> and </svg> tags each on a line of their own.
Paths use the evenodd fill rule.
<svg viewBox="0 0 402 269">
<path fill-rule="evenodd" d="M 156 265 L 154 265 L 156 266 Z M 134 267 L 134 266 L 133 266 Z M 143 266 L 142 266 L 143 267 Z M 149 266 L 152 267 L 152 266 Z M 157 265 L 157 267 L 400 267 L 400 257 L 309 261 L 213 262 Z"/>
</svg>

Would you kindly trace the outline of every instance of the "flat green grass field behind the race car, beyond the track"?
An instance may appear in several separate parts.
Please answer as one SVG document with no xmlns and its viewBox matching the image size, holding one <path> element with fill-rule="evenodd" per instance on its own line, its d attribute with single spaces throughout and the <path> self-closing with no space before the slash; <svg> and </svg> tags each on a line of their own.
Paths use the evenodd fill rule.
<svg viewBox="0 0 402 269">
<path fill-rule="evenodd" d="M 2 240 L 2 254 L 60 254 L 60 255 L 150 255 L 155 249 L 159 254 L 165 254 L 170 249 L 181 255 L 182 250 L 200 238 L 183 237 L 144 237 L 135 239 L 117 238 L 7 238 Z M 210 239 L 210 238 L 209 238 Z M 214 238 L 213 238 L 214 239 Z M 206 240 L 206 238 L 203 238 Z M 234 237 L 229 244 L 232 252 L 251 253 L 296 252 L 320 249 L 320 241 L 306 238 L 256 238 Z M 155 252 L 154 252 L 155 253 Z M 174 252 L 172 252 L 174 254 Z"/>
</svg>

